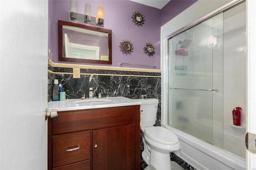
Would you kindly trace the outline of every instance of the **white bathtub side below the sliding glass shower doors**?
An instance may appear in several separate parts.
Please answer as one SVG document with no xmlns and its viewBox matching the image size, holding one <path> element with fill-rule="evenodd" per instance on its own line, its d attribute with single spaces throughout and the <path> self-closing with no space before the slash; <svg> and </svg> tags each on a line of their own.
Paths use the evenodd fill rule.
<svg viewBox="0 0 256 170">
<path fill-rule="evenodd" d="M 181 149 L 174 153 L 197 170 L 245 170 L 246 160 L 219 149 L 176 128 L 166 126 L 174 132 L 181 143 Z"/>
</svg>

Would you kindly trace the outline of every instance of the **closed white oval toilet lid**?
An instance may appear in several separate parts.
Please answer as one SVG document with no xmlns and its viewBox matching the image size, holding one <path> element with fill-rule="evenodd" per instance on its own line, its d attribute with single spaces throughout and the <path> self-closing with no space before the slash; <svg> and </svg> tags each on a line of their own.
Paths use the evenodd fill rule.
<svg viewBox="0 0 256 170">
<path fill-rule="evenodd" d="M 174 132 L 163 127 L 148 127 L 145 128 L 144 134 L 162 144 L 174 145 L 178 143 L 178 137 Z"/>
</svg>

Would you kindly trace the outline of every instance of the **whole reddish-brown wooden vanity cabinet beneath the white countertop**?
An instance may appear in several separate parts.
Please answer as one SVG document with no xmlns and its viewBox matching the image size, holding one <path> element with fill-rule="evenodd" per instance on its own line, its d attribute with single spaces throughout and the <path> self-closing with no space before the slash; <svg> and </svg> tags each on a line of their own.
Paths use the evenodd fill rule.
<svg viewBox="0 0 256 170">
<path fill-rule="evenodd" d="M 140 105 L 58 112 L 48 119 L 48 169 L 139 170 Z"/>
</svg>

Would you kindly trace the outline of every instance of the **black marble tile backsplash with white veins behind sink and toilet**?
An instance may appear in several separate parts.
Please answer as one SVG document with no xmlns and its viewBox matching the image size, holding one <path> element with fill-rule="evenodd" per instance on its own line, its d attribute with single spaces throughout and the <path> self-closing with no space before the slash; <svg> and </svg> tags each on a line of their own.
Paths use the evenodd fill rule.
<svg viewBox="0 0 256 170">
<path fill-rule="evenodd" d="M 161 124 L 161 77 L 132 76 L 160 76 L 161 73 L 81 69 L 81 73 L 89 75 L 81 75 L 80 79 L 74 79 L 72 74 L 64 74 L 70 73 L 72 68 L 53 67 L 52 70 L 54 74 L 48 72 L 48 101 L 52 97 L 54 79 L 58 79 L 62 84 L 66 91 L 66 99 L 79 99 L 82 94 L 88 97 L 90 87 L 93 88 L 94 96 L 96 93 L 102 93 L 102 97 L 156 98 L 159 100 L 156 126 Z M 130 76 L 122 76 L 123 74 Z"/>
</svg>

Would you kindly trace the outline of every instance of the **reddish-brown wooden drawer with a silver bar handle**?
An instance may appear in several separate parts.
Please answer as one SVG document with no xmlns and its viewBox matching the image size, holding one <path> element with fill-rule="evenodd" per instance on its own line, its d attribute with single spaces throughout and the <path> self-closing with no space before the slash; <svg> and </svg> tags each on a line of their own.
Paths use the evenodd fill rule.
<svg viewBox="0 0 256 170">
<path fill-rule="evenodd" d="M 52 136 L 53 167 L 90 159 L 90 130 Z"/>
</svg>

